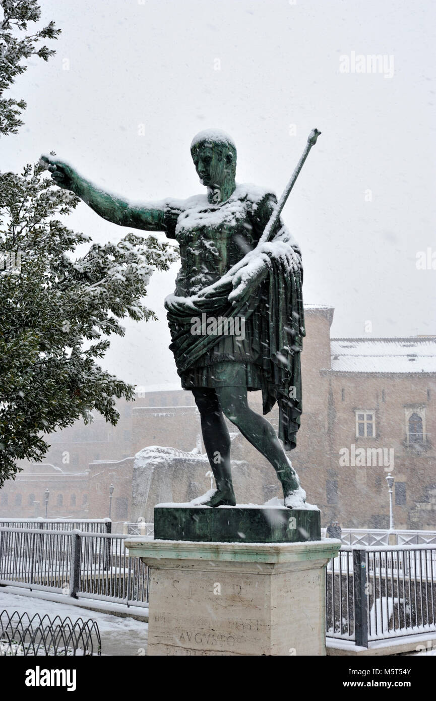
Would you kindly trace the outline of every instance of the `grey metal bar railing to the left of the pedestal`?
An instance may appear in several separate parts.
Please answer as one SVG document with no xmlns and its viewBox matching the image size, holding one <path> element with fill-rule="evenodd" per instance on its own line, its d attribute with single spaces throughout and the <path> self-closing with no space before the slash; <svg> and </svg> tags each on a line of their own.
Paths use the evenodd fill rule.
<svg viewBox="0 0 436 701">
<path fill-rule="evenodd" d="M 125 534 L 0 527 L 0 584 L 148 606 L 149 572 Z"/>
</svg>

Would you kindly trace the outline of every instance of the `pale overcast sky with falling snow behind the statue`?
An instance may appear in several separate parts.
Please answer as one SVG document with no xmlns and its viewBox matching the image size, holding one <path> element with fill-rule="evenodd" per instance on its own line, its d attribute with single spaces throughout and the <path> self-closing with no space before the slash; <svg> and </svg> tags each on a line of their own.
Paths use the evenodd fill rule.
<svg viewBox="0 0 436 701">
<path fill-rule="evenodd" d="M 318 127 L 284 212 L 303 252 L 306 303 L 334 306 L 332 336 L 436 333 L 436 270 L 416 269 L 417 252 L 436 252 L 434 3 L 41 6 L 62 34 L 50 42 L 55 57 L 33 60 L 10 91 L 28 107 L 25 127 L 1 139 L 2 170 L 54 150 L 129 198 L 184 198 L 202 191 L 191 139 L 218 127 L 236 141 L 238 182 L 280 194 Z M 384 69 L 353 72 L 353 52 L 383 55 Z M 100 242 L 127 233 L 84 204 L 68 224 Z M 112 341 L 104 365 L 127 381 L 177 382 L 163 308 L 176 273 L 156 273 L 149 287 L 160 320 L 126 322 Z"/>
</svg>

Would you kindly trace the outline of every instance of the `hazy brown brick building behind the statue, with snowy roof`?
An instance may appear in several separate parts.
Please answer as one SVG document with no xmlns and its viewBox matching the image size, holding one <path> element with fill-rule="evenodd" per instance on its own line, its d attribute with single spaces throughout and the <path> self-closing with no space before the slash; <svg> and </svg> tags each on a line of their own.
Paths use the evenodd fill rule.
<svg viewBox="0 0 436 701">
<path fill-rule="evenodd" d="M 386 527 L 385 478 L 392 472 L 395 525 L 435 529 L 436 336 L 331 339 L 333 313 L 306 306 L 304 414 L 290 456 L 308 501 L 320 507 L 323 524 L 334 518 L 348 527 Z M 259 395 L 250 393 L 257 411 Z M 177 386 L 149 387 L 118 410 L 116 427 L 96 416 L 90 426 L 76 423 L 53 435 L 48 464 L 22 463 L 24 471 L 0 491 L 0 516 L 43 515 L 48 488 L 50 516 L 105 517 L 114 484 L 111 515 L 130 519 L 138 451 L 203 451 L 193 397 Z M 277 428 L 275 409 L 268 419 Z M 271 465 L 234 426 L 231 433 L 232 458 L 257 475 L 259 500 L 280 496 Z"/>
</svg>

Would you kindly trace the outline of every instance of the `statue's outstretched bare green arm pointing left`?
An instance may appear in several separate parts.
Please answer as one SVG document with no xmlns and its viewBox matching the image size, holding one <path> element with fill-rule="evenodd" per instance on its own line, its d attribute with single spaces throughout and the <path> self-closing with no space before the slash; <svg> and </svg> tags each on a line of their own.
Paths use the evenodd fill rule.
<svg viewBox="0 0 436 701">
<path fill-rule="evenodd" d="M 94 212 L 97 212 L 97 215 L 107 219 L 108 222 L 145 231 L 165 231 L 165 212 L 158 204 L 132 205 L 128 200 L 98 188 L 81 177 L 71 165 L 53 156 L 41 156 L 41 163 L 50 170 L 55 184 L 73 191 Z"/>
</svg>

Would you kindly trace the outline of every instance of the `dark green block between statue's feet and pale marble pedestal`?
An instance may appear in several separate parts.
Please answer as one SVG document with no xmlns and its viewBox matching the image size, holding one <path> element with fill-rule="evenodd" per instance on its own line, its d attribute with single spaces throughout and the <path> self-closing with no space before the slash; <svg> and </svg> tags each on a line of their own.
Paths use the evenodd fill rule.
<svg viewBox="0 0 436 701">
<path fill-rule="evenodd" d="M 297 543 L 320 540 L 320 512 L 280 506 L 156 506 L 157 540 Z"/>
</svg>

